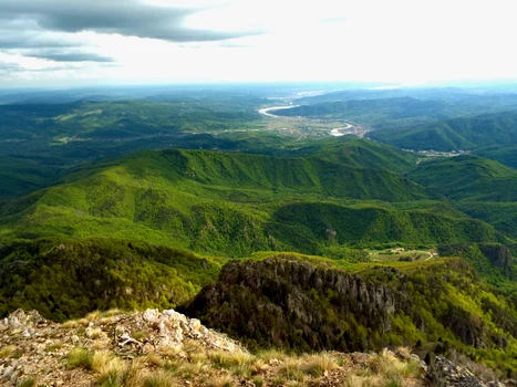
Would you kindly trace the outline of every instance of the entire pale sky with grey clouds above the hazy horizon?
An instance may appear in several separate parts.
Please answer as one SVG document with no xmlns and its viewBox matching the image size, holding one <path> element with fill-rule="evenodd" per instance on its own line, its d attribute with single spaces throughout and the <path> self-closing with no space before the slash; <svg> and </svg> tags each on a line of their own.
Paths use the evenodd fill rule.
<svg viewBox="0 0 517 387">
<path fill-rule="evenodd" d="M 514 0 L 0 0 L 0 87 L 517 79 Z"/>
</svg>

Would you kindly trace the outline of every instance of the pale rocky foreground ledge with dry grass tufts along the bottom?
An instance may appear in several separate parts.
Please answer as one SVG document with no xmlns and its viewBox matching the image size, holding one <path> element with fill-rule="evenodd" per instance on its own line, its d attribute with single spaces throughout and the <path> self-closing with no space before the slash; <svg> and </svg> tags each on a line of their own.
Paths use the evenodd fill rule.
<svg viewBox="0 0 517 387">
<path fill-rule="evenodd" d="M 173 310 L 95 312 L 63 324 L 17 311 L 0 322 L 2 386 L 504 386 L 407 348 L 250 354 Z"/>
</svg>

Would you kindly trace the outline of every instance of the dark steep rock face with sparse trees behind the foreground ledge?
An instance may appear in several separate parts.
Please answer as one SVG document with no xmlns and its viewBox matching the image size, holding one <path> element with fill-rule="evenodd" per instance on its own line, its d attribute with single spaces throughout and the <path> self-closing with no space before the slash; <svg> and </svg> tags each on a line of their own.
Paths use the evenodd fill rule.
<svg viewBox="0 0 517 387">
<path fill-rule="evenodd" d="M 226 264 L 187 311 L 251 346 L 366 351 L 392 330 L 400 300 L 383 284 L 273 258 Z"/>
</svg>

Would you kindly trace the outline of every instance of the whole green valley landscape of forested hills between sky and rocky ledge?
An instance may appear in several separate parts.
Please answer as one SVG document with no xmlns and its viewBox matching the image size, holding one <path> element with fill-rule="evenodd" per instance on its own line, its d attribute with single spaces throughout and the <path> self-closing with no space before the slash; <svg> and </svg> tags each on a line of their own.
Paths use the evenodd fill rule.
<svg viewBox="0 0 517 387">
<path fill-rule="evenodd" d="M 272 91 L 1 105 L 0 314 L 175 308 L 255 352 L 517 375 L 517 100 Z"/>
</svg>

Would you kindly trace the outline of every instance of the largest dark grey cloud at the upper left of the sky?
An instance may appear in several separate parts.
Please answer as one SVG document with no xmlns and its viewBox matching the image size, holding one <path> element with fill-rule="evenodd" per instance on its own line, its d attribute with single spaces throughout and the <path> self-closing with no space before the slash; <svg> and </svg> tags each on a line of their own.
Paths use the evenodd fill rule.
<svg viewBox="0 0 517 387">
<path fill-rule="evenodd" d="M 32 23 L 46 31 L 94 31 L 170 42 L 220 41 L 258 33 L 186 28 L 185 18 L 198 11 L 198 8 L 161 7 L 136 0 L 0 1 L 0 21 Z"/>
</svg>

